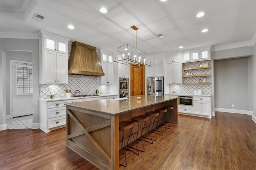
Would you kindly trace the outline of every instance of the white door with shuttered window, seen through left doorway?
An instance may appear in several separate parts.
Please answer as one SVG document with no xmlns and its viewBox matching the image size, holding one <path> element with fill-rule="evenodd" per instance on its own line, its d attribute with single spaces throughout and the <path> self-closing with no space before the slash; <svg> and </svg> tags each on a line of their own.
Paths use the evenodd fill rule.
<svg viewBox="0 0 256 170">
<path fill-rule="evenodd" d="M 13 65 L 13 117 L 33 114 L 33 68 L 32 64 Z"/>
</svg>

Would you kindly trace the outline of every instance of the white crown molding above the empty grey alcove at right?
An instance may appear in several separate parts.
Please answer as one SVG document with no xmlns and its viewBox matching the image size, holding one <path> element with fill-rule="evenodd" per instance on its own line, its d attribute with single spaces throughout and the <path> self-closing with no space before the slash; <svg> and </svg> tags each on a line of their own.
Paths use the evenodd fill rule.
<svg viewBox="0 0 256 170">
<path fill-rule="evenodd" d="M 239 47 L 247 47 L 247 46 L 252 46 L 252 45 L 253 45 L 252 40 L 248 40 L 248 41 L 243 41 L 243 42 L 239 42 L 239 43 L 231 43 L 231 44 L 226 44 L 226 45 L 212 46 L 211 51 L 235 49 L 235 48 L 239 48 Z"/>
</svg>

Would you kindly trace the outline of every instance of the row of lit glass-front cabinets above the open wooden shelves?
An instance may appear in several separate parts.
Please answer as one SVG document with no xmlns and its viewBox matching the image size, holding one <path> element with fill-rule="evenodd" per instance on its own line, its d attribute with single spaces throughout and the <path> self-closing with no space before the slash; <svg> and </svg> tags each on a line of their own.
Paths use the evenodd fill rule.
<svg viewBox="0 0 256 170">
<path fill-rule="evenodd" d="M 182 63 L 210 60 L 210 47 L 190 49 L 182 52 Z"/>
</svg>

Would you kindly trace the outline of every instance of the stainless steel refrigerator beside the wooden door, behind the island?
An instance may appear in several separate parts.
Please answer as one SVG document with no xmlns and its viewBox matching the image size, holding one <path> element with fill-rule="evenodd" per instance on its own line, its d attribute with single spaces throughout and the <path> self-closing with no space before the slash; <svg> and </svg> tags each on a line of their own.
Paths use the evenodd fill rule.
<svg viewBox="0 0 256 170">
<path fill-rule="evenodd" d="M 147 78 L 147 95 L 164 96 L 164 77 Z"/>
</svg>

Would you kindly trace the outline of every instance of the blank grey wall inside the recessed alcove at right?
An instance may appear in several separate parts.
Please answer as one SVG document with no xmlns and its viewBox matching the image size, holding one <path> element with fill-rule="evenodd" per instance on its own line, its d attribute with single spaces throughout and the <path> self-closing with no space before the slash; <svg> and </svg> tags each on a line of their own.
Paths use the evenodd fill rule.
<svg viewBox="0 0 256 170">
<path fill-rule="evenodd" d="M 241 57 L 214 62 L 215 108 L 249 111 L 248 59 Z"/>
</svg>

